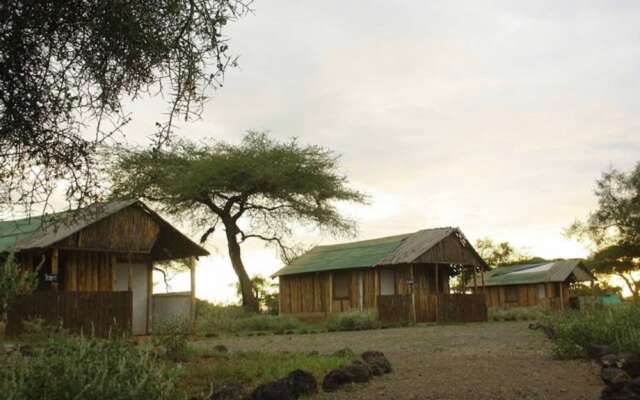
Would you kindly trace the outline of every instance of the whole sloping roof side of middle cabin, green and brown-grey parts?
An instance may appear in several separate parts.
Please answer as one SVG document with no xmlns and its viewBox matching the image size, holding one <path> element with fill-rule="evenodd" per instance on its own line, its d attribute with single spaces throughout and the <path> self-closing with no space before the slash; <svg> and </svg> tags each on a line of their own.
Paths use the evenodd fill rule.
<svg viewBox="0 0 640 400">
<path fill-rule="evenodd" d="M 451 227 L 424 229 L 360 242 L 316 246 L 273 276 L 407 264 L 454 232 L 459 232 L 459 229 Z"/>
</svg>

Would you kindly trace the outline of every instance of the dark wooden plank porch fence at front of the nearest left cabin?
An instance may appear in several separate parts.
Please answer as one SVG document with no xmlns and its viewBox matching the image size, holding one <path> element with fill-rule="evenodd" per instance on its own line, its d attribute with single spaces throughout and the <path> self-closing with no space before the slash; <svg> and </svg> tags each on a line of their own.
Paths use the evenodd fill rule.
<svg viewBox="0 0 640 400">
<path fill-rule="evenodd" d="M 42 318 L 73 333 L 108 337 L 131 332 L 131 292 L 36 292 L 18 296 L 7 313 L 6 333 L 23 332 L 23 320 Z"/>
</svg>

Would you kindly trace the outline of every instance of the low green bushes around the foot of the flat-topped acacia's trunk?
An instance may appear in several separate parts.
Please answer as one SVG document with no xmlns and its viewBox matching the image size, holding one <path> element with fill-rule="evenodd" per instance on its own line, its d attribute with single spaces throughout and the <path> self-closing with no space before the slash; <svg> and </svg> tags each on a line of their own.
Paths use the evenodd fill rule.
<svg viewBox="0 0 640 400">
<path fill-rule="evenodd" d="M 196 332 L 199 335 L 285 332 L 302 327 L 300 321 L 290 316 L 250 313 L 240 306 L 221 306 L 202 300 L 196 305 Z"/>
</svg>

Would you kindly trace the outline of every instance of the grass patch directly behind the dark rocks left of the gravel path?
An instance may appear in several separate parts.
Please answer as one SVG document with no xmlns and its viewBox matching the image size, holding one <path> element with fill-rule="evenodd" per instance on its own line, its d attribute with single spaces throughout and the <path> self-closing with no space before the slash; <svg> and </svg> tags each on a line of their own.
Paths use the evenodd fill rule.
<svg viewBox="0 0 640 400">
<path fill-rule="evenodd" d="M 319 382 L 334 368 L 349 364 L 349 355 L 241 352 L 203 354 L 182 364 L 180 387 L 192 397 L 207 393 L 211 384 L 238 383 L 254 388 L 283 378 L 295 369 L 311 372 Z"/>
</svg>

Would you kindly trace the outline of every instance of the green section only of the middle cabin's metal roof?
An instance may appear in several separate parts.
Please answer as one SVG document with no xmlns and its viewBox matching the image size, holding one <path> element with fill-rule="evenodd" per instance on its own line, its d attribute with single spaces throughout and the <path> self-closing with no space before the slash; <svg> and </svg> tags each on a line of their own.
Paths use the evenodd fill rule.
<svg viewBox="0 0 640 400">
<path fill-rule="evenodd" d="M 404 240 L 412 235 L 414 233 L 361 242 L 316 246 L 276 272 L 274 276 L 372 267 L 392 254 Z"/>
</svg>

